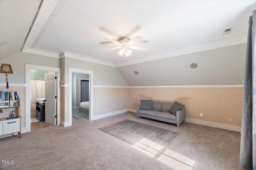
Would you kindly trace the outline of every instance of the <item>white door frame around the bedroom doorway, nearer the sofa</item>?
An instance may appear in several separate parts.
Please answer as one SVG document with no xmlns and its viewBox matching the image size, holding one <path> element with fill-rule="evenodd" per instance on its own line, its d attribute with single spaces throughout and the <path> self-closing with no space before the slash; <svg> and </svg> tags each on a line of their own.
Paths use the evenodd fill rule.
<svg viewBox="0 0 256 170">
<path fill-rule="evenodd" d="M 78 68 L 68 68 L 68 120 L 72 125 L 72 72 L 89 74 L 89 121 L 92 120 L 93 116 L 93 71 L 83 70 Z M 65 96 L 66 97 L 66 96 Z"/>
</svg>

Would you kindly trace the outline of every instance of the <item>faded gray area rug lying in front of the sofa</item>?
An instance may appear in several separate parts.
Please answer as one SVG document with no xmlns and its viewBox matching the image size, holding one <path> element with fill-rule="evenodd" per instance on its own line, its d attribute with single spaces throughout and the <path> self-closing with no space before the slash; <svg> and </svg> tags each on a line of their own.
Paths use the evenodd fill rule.
<svg viewBox="0 0 256 170">
<path fill-rule="evenodd" d="M 128 119 L 98 129 L 157 156 L 180 134 Z"/>
</svg>

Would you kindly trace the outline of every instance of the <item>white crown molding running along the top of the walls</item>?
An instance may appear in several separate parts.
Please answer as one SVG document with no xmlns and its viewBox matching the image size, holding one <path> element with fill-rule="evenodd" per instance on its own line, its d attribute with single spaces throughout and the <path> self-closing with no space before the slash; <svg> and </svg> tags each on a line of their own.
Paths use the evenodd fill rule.
<svg viewBox="0 0 256 170">
<path fill-rule="evenodd" d="M 121 61 L 118 63 L 109 63 L 106 61 L 93 59 L 90 57 L 77 55 L 77 54 L 69 53 L 66 51 L 62 51 L 61 53 L 52 53 L 50 51 L 43 51 L 43 50 L 39 50 L 39 49 L 27 49 L 23 52 L 37 54 L 37 55 L 44 55 L 44 56 L 54 57 L 54 58 L 59 58 L 59 59 L 62 59 L 63 57 L 68 57 L 68 58 L 72 58 L 72 59 L 102 64 L 102 65 L 111 66 L 111 67 L 120 67 L 120 66 L 127 66 L 127 65 L 131 65 L 131 64 L 144 63 L 144 62 L 148 62 L 148 61 L 166 59 L 169 57 L 176 57 L 176 56 L 186 55 L 186 54 L 190 54 L 190 53 L 197 53 L 197 52 L 201 52 L 201 51 L 218 49 L 218 48 L 222 48 L 222 47 L 243 44 L 246 42 L 247 42 L 247 33 L 244 32 L 244 33 L 240 33 L 240 34 L 236 34 L 236 35 L 222 37 L 219 39 L 196 43 L 193 45 L 178 47 L 175 49 L 170 49 L 170 50 L 162 51 L 159 53 L 145 55 L 142 57 L 126 59 L 125 61 Z"/>
</svg>

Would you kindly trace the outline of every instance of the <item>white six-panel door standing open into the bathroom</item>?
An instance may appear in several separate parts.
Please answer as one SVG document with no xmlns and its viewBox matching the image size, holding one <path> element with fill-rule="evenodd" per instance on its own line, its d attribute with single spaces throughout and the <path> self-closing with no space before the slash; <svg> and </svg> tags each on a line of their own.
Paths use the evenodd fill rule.
<svg viewBox="0 0 256 170">
<path fill-rule="evenodd" d="M 45 74 L 45 122 L 56 125 L 56 72 Z"/>
</svg>

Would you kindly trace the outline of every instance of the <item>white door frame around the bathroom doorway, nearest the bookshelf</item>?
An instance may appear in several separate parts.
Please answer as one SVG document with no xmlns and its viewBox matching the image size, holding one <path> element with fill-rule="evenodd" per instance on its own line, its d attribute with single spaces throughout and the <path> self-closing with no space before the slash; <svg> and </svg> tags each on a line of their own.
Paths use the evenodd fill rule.
<svg viewBox="0 0 256 170">
<path fill-rule="evenodd" d="M 31 112 L 30 112 L 30 69 L 46 70 L 57 72 L 57 125 L 60 125 L 60 80 L 61 68 L 40 66 L 34 64 L 25 64 L 25 128 L 22 128 L 22 133 L 31 131 Z"/>
</svg>

